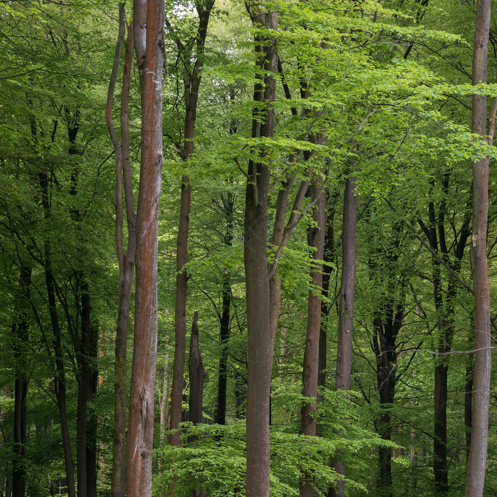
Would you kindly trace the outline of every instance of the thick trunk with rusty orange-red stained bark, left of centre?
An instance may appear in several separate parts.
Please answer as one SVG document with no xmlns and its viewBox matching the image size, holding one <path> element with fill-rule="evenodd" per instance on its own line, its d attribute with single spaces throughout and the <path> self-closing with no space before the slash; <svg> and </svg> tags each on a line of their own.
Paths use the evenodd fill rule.
<svg viewBox="0 0 497 497">
<path fill-rule="evenodd" d="M 142 86 L 142 146 L 136 216 L 135 333 L 126 451 L 126 496 L 152 495 L 152 444 L 157 360 L 159 202 L 163 166 L 164 1 L 148 0 Z M 143 5 L 135 1 L 135 23 Z M 135 24 L 136 28 L 136 24 Z M 143 37 L 143 33 L 139 36 Z M 137 43 L 138 42 L 138 43 Z M 139 46 L 143 38 L 137 39 Z"/>
</svg>

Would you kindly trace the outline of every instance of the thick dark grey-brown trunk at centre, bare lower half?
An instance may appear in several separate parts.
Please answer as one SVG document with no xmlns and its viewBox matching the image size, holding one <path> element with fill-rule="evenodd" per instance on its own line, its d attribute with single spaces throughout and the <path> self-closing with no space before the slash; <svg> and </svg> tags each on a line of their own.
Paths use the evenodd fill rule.
<svg viewBox="0 0 497 497">
<path fill-rule="evenodd" d="M 257 4 L 249 11 L 254 24 L 266 29 L 256 36 L 257 66 L 265 74 L 254 86 L 252 137 L 272 138 L 277 71 L 277 50 L 271 32 L 278 26 L 277 10 L 265 12 Z M 262 118 L 264 107 L 264 118 Z M 262 119 L 262 122 L 261 122 Z M 244 263 L 247 287 L 248 391 L 247 391 L 247 497 L 269 497 L 269 404 L 274 336 L 269 324 L 267 270 L 267 193 L 269 166 L 249 161 L 244 224 Z"/>
</svg>

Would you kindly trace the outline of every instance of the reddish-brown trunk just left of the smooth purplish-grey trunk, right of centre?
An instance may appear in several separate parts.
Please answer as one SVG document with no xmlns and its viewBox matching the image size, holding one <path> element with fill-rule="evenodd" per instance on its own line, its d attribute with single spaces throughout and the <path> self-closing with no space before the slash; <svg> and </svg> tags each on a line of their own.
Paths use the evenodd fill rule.
<svg viewBox="0 0 497 497">
<path fill-rule="evenodd" d="M 326 194 L 320 194 L 321 183 L 316 180 L 312 182 L 312 200 L 316 200 L 313 209 L 313 220 L 316 227 L 311 233 L 313 263 L 311 265 L 311 285 L 309 290 L 309 301 L 307 310 L 307 333 L 304 350 L 304 367 L 302 371 L 302 393 L 305 397 L 314 399 L 306 402 L 301 411 L 300 433 L 303 435 L 316 436 L 316 407 L 318 401 L 318 373 L 319 373 L 319 337 L 321 330 L 321 291 L 323 288 L 323 258 L 325 252 L 326 234 Z M 319 196 L 319 198 L 317 198 Z M 302 475 L 299 482 L 299 494 L 301 497 L 312 497 L 314 495 L 313 475 Z"/>
</svg>

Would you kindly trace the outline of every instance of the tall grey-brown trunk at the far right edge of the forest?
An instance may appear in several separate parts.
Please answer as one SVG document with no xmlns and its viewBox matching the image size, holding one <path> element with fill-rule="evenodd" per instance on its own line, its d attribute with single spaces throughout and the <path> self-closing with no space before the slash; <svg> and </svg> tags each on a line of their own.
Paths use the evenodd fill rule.
<svg viewBox="0 0 497 497">
<path fill-rule="evenodd" d="M 473 84 L 487 81 L 487 53 L 489 43 L 491 0 L 478 0 L 473 42 Z M 487 98 L 473 95 L 472 131 L 487 136 Z M 495 104 L 491 115 L 489 144 L 492 144 Z M 473 373 L 473 416 L 469 451 L 466 497 L 481 497 L 485 482 L 489 437 L 490 401 L 490 289 L 487 265 L 487 220 L 489 208 L 489 159 L 473 163 L 473 224 L 471 235 L 471 270 L 475 293 L 475 366 Z"/>
</svg>

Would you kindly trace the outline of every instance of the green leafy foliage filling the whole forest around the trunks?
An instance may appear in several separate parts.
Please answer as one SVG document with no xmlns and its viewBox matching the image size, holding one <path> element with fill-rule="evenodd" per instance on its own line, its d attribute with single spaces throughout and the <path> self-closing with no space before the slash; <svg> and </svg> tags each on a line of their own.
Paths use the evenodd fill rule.
<svg viewBox="0 0 497 497">
<path fill-rule="evenodd" d="M 150 366 L 157 378 L 154 496 L 190 496 L 194 489 L 209 497 L 245 495 L 250 357 L 244 202 L 253 180 L 249 161 L 260 161 L 261 152 L 270 174 L 269 233 L 290 177 L 285 223 L 292 214 L 298 218 L 280 250 L 267 243 L 268 269 L 277 262 L 281 278 L 270 379 L 271 497 L 298 496 L 304 477 L 318 495 L 331 495 L 339 479 L 331 467 L 335 459 L 346 467 L 346 496 L 463 494 L 474 363 L 471 163 L 483 157 L 491 162 L 487 243 L 491 314 L 496 311 L 497 152 L 471 133 L 471 95 L 491 97 L 490 108 L 497 57 L 489 58 L 488 83 L 472 86 L 474 3 L 263 2 L 279 14 L 271 33 L 278 71 L 267 75 L 255 65 L 253 40 L 268 33 L 252 24 L 243 2 L 216 0 L 203 54 L 197 53 L 192 4 L 166 2 L 158 353 Z M 1 496 L 71 495 L 68 474 L 76 478 L 73 491 L 81 488 L 78 480 L 88 482 L 86 495 L 78 490 L 78 497 L 110 495 L 119 271 L 104 107 L 117 7 L 107 0 L 0 3 Z M 184 81 L 191 76 L 185 59 L 199 56 L 194 153 L 183 160 Z M 137 185 L 142 123 L 135 66 L 129 119 Z M 267 113 L 266 103 L 254 104 L 253 87 L 268 76 L 276 79 L 274 138 L 253 138 L 253 115 L 263 120 Z M 119 92 L 118 83 L 116 102 Z M 118 112 L 115 103 L 116 122 Z M 334 371 L 350 163 L 357 165 L 357 269 L 351 391 L 343 394 L 335 392 Z M 186 321 L 188 329 L 198 312 L 204 423 L 188 420 L 186 372 L 181 445 L 170 446 L 175 257 L 185 174 L 192 187 Z M 326 291 L 313 288 L 309 275 L 309 235 L 316 227 L 310 187 L 292 212 L 299 186 L 313 181 L 327 197 Z M 310 290 L 321 295 L 326 332 L 317 400 L 302 396 Z M 132 304 L 128 350 L 133 319 Z M 131 353 L 128 361 L 129 392 Z M 438 495 L 434 391 L 440 365 L 447 370 L 442 445 L 448 491 Z M 223 379 L 225 424 L 218 424 Z M 489 497 L 497 495 L 494 383 Z M 300 434 L 308 402 L 317 403 L 315 437 Z M 25 406 L 24 414 L 16 405 Z M 16 438 L 22 426 L 25 438 Z M 88 447 L 84 465 L 82 446 Z M 381 475 L 380 454 L 388 455 L 390 479 Z M 21 480 L 24 490 L 13 491 Z"/>
</svg>

